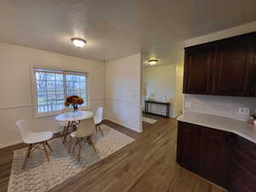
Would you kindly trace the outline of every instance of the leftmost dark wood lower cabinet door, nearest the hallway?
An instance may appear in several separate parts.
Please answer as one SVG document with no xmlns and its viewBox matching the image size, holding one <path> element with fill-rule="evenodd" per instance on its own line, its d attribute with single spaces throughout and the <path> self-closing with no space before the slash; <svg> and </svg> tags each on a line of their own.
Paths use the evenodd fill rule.
<svg viewBox="0 0 256 192">
<path fill-rule="evenodd" d="M 201 129 L 196 125 L 178 122 L 177 163 L 192 172 L 199 171 Z"/>
</svg>

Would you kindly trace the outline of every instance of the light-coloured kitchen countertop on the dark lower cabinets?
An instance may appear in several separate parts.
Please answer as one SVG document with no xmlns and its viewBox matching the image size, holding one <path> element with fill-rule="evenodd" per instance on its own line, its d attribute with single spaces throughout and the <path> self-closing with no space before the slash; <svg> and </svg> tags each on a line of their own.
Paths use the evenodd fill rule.
<svg viewBox="0 0 256 192">
<path fill-rule="evenodd" d="M 251 125 L 245 121 L 195 112 L 185 112 L 178 116 L 177 120 L 216 130 L 229 131 L 256 143 L 256 125 Z"/>
</svg>

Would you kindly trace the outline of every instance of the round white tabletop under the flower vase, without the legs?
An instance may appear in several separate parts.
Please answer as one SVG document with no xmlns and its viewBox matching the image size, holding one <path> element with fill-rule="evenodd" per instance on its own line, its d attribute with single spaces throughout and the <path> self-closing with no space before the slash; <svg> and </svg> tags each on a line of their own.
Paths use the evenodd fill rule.
<svg viewBox="0 0 256 192">
<path fill-rule="evenodd" d="M 69 113 L 61 113 L 55 117 L 58 121 L 77 121 L 91 118 L 93 113 L 91 111 L 77 111 Z"/>
</svg>

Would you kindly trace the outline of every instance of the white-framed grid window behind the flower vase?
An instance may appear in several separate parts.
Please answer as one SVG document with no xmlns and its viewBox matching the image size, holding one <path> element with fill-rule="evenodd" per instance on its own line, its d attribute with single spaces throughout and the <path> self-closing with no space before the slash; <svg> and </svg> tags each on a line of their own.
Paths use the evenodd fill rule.
<svg viewBox="0 0 256 192">
<path fill-rule="evenodd" d="M 34 68 L 36 113 L 44 115 L 65 108 L 67 96 L 81 96 L 88 107 L 88 73 Z"/>
</svg>

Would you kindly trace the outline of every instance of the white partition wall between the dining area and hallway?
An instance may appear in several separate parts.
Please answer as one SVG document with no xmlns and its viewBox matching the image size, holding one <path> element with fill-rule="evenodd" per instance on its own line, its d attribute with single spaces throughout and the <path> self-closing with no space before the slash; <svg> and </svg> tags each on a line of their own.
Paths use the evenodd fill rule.
<svg viewBox="0 0 256 192">
<path fill-rule="evenodd" d="M 142 55 L 106 63 L 106 118 L 134 131 L 142 131 Z"/>
</svg>

